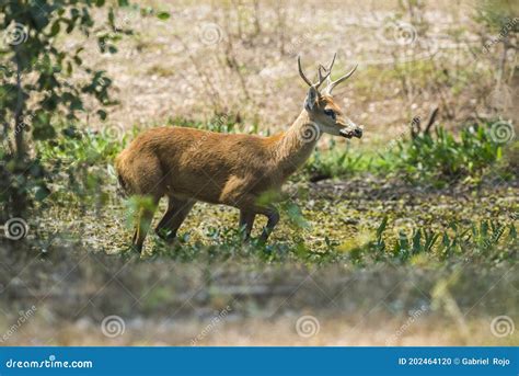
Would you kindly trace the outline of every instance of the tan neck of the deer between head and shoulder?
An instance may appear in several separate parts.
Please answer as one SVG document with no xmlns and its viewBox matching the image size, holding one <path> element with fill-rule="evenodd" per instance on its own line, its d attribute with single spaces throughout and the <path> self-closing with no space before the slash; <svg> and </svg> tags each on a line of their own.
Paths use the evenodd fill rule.
<svg viewBox="0 0 519 376">
<path fill-rule="evenodd" d="M 321 134 L 305 110 L 275 144 L 276 163 L 288 174 L 301 167 L 311 156 Z"/>
</svg>

